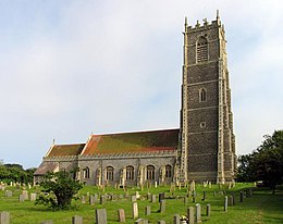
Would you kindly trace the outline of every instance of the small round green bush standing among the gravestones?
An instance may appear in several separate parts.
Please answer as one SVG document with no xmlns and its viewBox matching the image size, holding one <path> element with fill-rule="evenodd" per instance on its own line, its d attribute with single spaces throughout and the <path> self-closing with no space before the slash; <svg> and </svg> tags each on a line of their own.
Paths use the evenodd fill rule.
<svg viewBox="0 0 283 224">
<path fill-rule="evenodd" d="M 53 210 L 70 209 L 72 199 L 83 187 L 78 181 L 71 178 L 71 174 L 65 171 L 47 173 L 40 183 L 44 194 L 36 204 L 45 204 Z"/>
</svg>

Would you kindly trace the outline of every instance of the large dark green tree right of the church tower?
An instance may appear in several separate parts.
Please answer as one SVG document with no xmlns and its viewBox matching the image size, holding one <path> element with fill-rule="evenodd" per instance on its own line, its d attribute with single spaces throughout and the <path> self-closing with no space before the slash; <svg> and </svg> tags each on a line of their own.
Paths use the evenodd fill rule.
<svg viewBox="0 0 283 224">
<path fill-rule="evenodd" d="M 238 181 L 262 181 L 275 192 L 283 183 L 283 130 L 266 135 L 263 142 L 251 154 L 239 157 Z"/>
</svg>

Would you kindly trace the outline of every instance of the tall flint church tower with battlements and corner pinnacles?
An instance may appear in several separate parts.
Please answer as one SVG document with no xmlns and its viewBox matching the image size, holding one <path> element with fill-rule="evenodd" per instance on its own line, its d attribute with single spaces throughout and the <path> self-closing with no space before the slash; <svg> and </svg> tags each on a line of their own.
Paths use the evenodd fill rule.
<svg viewBox="0 0 283 224">
<path fill-rule="evenodd" d="M 226 40 L 219 15 L 195 27 L 185 21 L 180 181 L 232 181 L 235 136 L 226 62 Z"/>
</svg>

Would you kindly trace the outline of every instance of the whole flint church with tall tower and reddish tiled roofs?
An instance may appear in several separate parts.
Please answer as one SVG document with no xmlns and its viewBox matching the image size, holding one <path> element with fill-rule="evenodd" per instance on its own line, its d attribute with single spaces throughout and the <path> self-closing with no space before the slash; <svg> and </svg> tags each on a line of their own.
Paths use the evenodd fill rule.
<svg viewBox="0 0 283 224">
<path fill-rule="evenodd" d="M 226 40 L 219 15 L 184 25 L 180 128 L 90 135 L 86 142 L 53 144 L 34 174 L 72 171 L 86 185 L 212 182 L 235 177 L 236 153 Z M 179 100 L 179 99 L 176 99 Z"/>
</svg>

